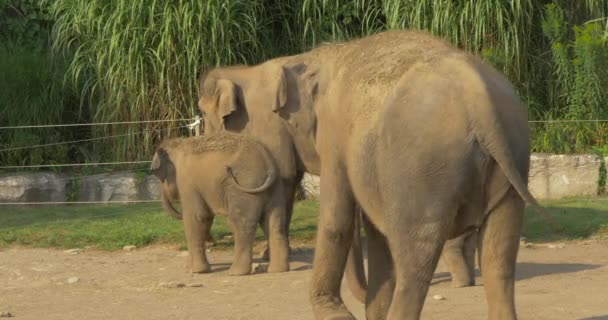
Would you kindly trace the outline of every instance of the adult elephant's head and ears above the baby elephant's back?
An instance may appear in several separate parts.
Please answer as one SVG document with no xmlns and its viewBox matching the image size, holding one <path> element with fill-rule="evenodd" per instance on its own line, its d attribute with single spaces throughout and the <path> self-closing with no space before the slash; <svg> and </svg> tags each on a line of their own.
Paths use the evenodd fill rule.
<svg viewBox="0 0 608 320">
<path fill-rule="evenodd" d="M 271 60 L 212 69 L 199 78 L 198 108 L 205 133 L 242 132 L 269 147 L 282 173 L 317 173 L 316 72 Z M 295 155 L 294 155 L 295 150 Z"/>
</svg>

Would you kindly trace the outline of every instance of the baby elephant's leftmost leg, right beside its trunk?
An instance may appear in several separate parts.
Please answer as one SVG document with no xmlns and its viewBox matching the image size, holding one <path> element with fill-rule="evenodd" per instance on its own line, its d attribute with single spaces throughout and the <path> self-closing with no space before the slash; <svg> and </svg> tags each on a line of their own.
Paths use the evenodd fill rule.
<svg viewBox="0 0 608 320">
<path fill-rule="evenodd" d="M 203 204 L 200 195 L 192 192 L 182 196 L 183 225 L 190 253 L 190 272 L 211 271 L 207 260 L 205 241 L 213 222 L 213 215 Z"/>
</svg>

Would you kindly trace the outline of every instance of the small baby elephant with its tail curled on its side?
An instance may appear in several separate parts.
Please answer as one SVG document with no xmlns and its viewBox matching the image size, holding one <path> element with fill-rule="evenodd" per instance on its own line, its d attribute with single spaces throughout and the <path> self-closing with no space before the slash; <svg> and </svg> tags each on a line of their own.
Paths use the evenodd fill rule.
<svg viewBox="0 0 608 320">
<path fill-rule="evenodd" d="M 258 223 L 269 239 L 268 272 L 289 271 L 285 195 L 268 150 L 250 137 L 221 133 L 163 141 L 150 171 L 161 181 L 168 214 L 181 219 L 191 272 L 209 272 L 205 240 L 214 214 L 228 217 L 234 234 L 230 275 L 251 273 Z M 182 213 L 172 205 L 181 201 Z"/>
</svg>

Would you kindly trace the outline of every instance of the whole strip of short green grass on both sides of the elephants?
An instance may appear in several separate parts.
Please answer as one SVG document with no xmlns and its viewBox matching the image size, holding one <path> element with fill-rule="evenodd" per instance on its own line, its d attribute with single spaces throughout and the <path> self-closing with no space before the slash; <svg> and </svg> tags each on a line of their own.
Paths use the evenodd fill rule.
<svg viewBox="0 0 608 320">
<path fill-rule="evenodd" d="M 545 201 L 543 205 L 563 230 L 554 232 L 538 213 L 528 208 L 523 231 L 528 241 L 608 238 L 608 198 Z M 290 227 L 292 240 L 314 239 L 318 211 L 316 201 L 296 204 Z M 224 217 L 216 217 L 211 233 L 216 240 L 230 234 Z M 257 239 L 264 239 L 259 229 Z M 125 245 L 162 243 L 186 246 L 181 222 L 166 216 L 158 204 L 2 208 L 0 211 L 0 247 L 92 246 L 116 250 Z M 218 246 L 231 247 L 232 240 L 221 240 Z"/>
</svg>

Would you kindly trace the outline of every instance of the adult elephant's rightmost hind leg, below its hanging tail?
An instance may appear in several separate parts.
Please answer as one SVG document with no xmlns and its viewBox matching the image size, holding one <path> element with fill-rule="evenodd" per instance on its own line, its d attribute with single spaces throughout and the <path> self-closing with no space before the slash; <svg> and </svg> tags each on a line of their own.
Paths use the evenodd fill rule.
<svg viewBox="0 0 608 320">
<path fill-rule="evenodd" d="M 515 320 L 515 263 L 524 202 L 511 188 L 488 213 L 479 234 L 483 282 L 490 320 Z"/>
</svg>

